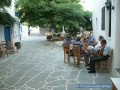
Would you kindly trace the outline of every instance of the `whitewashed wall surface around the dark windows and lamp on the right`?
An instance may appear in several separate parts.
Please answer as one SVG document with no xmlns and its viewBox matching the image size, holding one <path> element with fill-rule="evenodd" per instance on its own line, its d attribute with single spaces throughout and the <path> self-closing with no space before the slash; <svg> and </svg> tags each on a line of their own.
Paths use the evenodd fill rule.
<svg viewBox="0 0 120 90">
<path fill-rule="evenodd" d="M 108 45 L 113 48 L 112 70 L 120 68 L 120 0 L 111 0 L 115 7 L 111 14 L 111 37 L 109 37 L 109 11 L 105 10 L 105 30 L 101 30 L 101 12 L 105 6 L 106 0 L 95 0 L 93 9 L 93 35 L 98 40 L 99 35 L 103 35 L 108 42 Z"/>
</svg>

